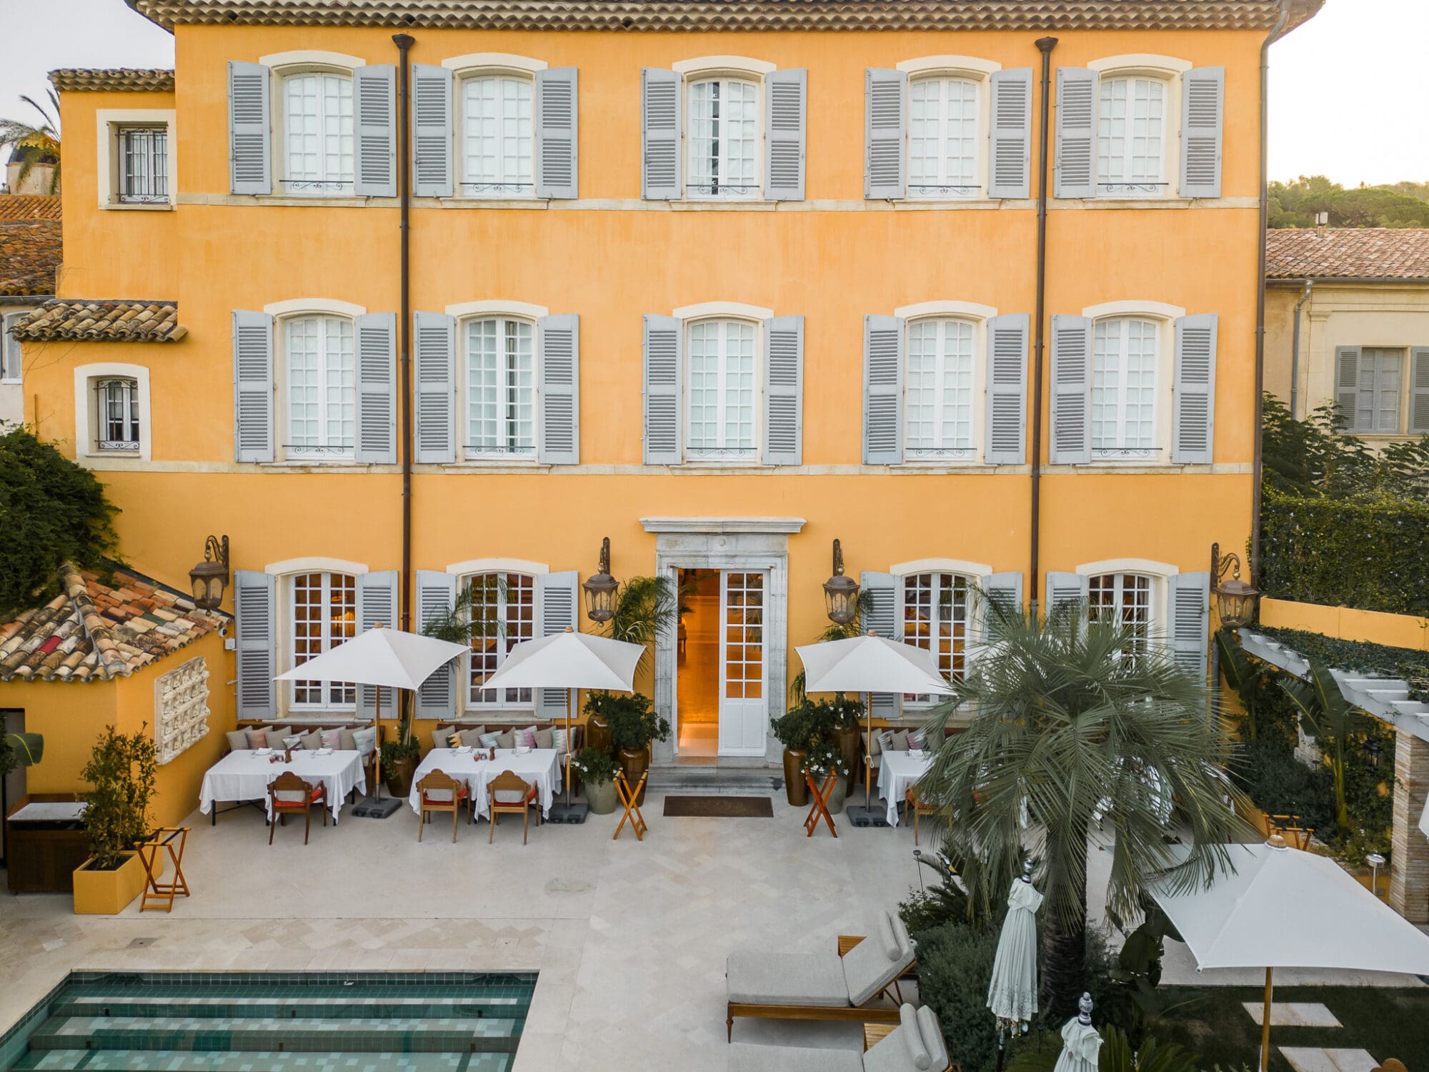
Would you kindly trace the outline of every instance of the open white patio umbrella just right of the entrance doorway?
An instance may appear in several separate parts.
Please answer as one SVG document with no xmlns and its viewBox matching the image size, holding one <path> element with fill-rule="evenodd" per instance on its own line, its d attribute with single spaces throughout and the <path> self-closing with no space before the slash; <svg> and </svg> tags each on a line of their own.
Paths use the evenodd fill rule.
<svg viewBox="0 0 1429 1072">
<path fill-rule="evenodd" d="M 805 692 L 897 692 L 940 696 L 952 692 L 943 675 L 937 672 L 932 652 L 889 640 L 872 629 L 865 636 L 803 645 L 795 650 L 805 665 Z M 867 726 L 863 743 L 863 808 L 865 822 L 872 822 L 867 818 L 873 809 L 872 703 L 865 703 L 865 715 Z"/>
</svg>

